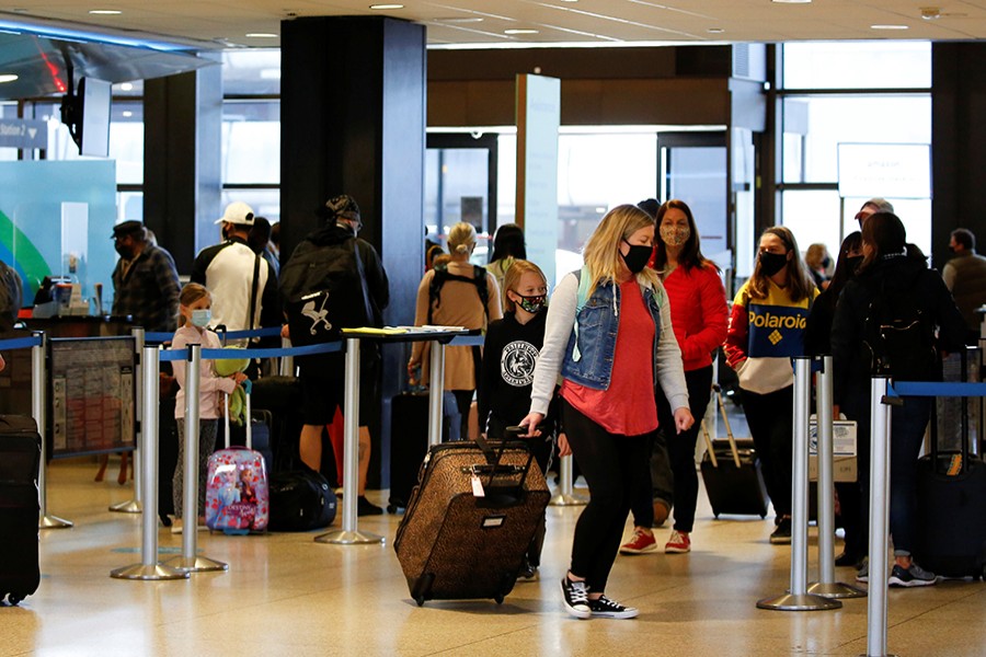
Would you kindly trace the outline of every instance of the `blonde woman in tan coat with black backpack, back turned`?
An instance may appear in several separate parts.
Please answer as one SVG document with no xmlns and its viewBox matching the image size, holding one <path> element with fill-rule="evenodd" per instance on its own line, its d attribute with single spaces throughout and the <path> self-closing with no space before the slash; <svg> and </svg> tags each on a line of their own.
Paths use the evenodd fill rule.
<svg viewBox="0 0 986 657">
<path fill-rule="evenodd" d="M 425 273 L 417 286 L 414 324 L 465 326 L 485 331 L 486 325 L 503 316 L 496 279 L 483 267 L 469 262 L 475 249 L 475 229 L 465 221 L 448 232 L 449 262 Z M 422 368 L 422 382 L 427 383 L 427 343 L 416 342 L 408 361 L 408 373 L 414 379 Z M 447 347 L 445 350 L 445 390 L 451 391 L 462 414 L 461 435 L 469 428 L 469 407 L 482 364 L 480 347 Z"/>
</svg>

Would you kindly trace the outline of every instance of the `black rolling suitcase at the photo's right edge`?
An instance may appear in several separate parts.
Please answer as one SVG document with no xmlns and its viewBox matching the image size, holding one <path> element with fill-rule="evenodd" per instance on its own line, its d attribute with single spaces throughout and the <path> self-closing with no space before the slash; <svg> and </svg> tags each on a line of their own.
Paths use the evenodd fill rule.
<svg viewBox="0 0 986 657">
<path fill-rule="evenodd" d="M 964 358 L 961 377 L 967 380 Z M 976 423 L 970 422 L 968 399 L 959 400 L 959 449 L 940 449 L 938 413 L 932 412 L 931 453 L 918 460 L 914 555 L 936 575 L 986 578 L 986 463 L 978 454 L 970 453 L 970 431 Z M 937 410 L 938 404 L 932 408 Z"/>
</svg>

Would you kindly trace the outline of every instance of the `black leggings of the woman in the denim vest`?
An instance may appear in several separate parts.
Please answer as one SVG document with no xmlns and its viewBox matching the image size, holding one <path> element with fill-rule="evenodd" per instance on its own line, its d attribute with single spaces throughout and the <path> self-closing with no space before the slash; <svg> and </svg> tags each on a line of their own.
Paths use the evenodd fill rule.
<svg viewBox="0 0 986 657">
<path fill-rule="evenodd" d="M 623 538 L 634 468 L 646 466 L 650 434 L 610 434 L 564 400 L 561 414 L 591 494 L 575 525 L 571 572 L 584 577 L 591 591 L 601 593 Z"/>
</svg>

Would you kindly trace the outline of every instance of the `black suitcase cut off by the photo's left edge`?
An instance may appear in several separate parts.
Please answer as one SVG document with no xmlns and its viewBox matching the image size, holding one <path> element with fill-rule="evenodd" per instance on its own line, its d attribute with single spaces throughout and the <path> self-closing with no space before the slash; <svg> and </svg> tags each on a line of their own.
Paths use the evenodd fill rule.
<svg viewBox="0 0 986 657">
<path fill-rule="evenodd" d="M 41 436 L 34 419 L 0 415 L 0 602 L 16 604 L 37 590 L 37 471 Z"/>
</svg>

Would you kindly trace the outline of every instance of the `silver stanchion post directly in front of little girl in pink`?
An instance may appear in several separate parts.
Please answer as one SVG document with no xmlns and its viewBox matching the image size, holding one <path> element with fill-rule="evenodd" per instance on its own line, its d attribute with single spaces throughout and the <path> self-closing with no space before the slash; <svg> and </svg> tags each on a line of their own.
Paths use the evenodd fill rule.
<svg viewBox="0 0 986 657">
<path fill-rule="evenodd" d="M 202 372 L 202 345 L 188 345 L 188 364 L 185 368 L 185 462 L 183 466 L 184 499 L 182 500 L 182 554 L 168 560 L 165 565 L 203 573 L 228 570 L 229 565 L 198 556 L 198 441 L 199 441 L 199 382 Z M 190 522 L 191 520 L 191 522 Z"/>
</svg>

